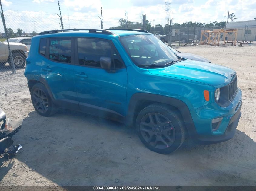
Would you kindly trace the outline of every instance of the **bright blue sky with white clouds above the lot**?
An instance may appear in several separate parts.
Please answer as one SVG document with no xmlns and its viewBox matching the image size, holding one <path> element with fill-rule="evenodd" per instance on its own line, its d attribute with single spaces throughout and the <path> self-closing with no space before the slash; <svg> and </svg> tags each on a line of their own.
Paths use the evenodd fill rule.
<svg viewBox="0 0 256 191">
<path fill-rule="evenodd" d="M 59 0 L 64 28 L 99 28 L 101 6 L 103 27 L 118 25 L 118 20 L 140 22 L 140 14 L 153 24 L 166 23 L 165 2 L 171 3 L 170 18 L 174 22 L 214 22 L 226 21 L 228 9 L 235 13 L 236 21 L 252 20 L 256 17 L 256 0 Z M 24 26 L 23 30 L 40 32 L 59 29 L 57 0 L 2 0 L 7 27 Z M 68 9 L 68 10 L 67 10 Z M 69 23 L 68 23 L 69 12 Z M 1 30 L 1 27 L 0 27 Z M 32 30 L 32 31 L 31 31 Z"/>
</svg>

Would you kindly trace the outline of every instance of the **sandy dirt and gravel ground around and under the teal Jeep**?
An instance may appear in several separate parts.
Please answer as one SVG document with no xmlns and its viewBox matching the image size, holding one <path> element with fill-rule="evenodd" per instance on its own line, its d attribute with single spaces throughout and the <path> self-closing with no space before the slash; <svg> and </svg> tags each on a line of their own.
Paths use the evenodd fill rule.
<svg viewBox="0 0 256 191">
<path fill-rule="evenodd" d="M 0 186 L 256 185 L 256 46 L 178 50 L 236 70 L 243 106 L 233 139 L 214 145 L 186 141 L 172 154 L 158 154 L 120 123 L 69 110 L 39 116 L 24 69 L 0 72 L 0 107 L 8 117 L 23 119 L 13 139 L 24 148 L 10 161 L 0 158 Z"/>
</svg>

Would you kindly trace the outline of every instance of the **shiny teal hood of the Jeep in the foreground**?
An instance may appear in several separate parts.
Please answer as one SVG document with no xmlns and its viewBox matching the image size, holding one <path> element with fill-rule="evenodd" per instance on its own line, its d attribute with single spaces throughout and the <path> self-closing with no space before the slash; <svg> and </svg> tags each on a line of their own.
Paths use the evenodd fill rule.
<svg viewBox="0 0 256 191">
<path fill-rule="evenodd" d="M 236 72 L 231 68 L 193 60 L 181 61 L 165 68 L 148 69 L 148 72 L 197 81 L 216 88 L 227 85 L 236 75 Z"/>
</svg>

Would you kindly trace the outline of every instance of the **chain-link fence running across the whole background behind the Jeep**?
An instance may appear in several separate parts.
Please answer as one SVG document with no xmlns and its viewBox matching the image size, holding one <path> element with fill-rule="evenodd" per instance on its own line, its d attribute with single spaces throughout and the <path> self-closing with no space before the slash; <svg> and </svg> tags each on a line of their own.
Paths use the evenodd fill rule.
<svg viewBox="0 0 256 191">
<path fill-rule="evenodd" d="M 4 12 L 6 32 L 3 24 L 3 17 L 0 23 L 0 71 L 11 71 L 25 68 L 26 57 L 30 50 L 31 38 L 42 31 L 61 29 L 60 18 L 55 13 L 26 11 L 15 12 L 8 10 Z M 98 17 L 83 17 L 75 15 L 68 17 L 62 16 L 64 29 L 75 28 L 101 28 L 101 20 Z M 118 20 L 105 19 L 103 22 L 106 26 L 118 25 Z M 214 29 L 227 29 L 226 26 L 198 27 L 194 26 L 155 26 L 147 27 L 140 22 L 129 22 L 126 28 L 145 29 L 153 34 L 160 34 L 160 40 L 168 45 L 181 46 L 185 44 L 200 43 L 201 31 Z M 125 27 L 122 27 L 125 28 Z M 238 29 L 237 41 L 256 41 L 256 26 L 232 26 Z M 9 47 L 12 54 L 9 53 Z M 203 36 L 205 40 L 206 37 Z M 220 34 L 220 40 L 224 40 Z M 12 56 L 11 56 L 12 55 Z M 12 62 L 13 60 L 13 62 Z"/>
</svg>

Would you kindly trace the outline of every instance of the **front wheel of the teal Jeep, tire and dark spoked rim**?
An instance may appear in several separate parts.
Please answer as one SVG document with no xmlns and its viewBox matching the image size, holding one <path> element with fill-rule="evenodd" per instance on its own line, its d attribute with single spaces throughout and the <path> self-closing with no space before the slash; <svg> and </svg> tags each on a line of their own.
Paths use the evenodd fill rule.
<svg viewBox="0 0 256 191">
<path fill-rule="evenodd" d="M 136 119 L 141 142 L 151 151 L 168 154 L 185 140 L 184 123 L 167 105 L 155 103 L 145 107 Z"/>
</svg>

